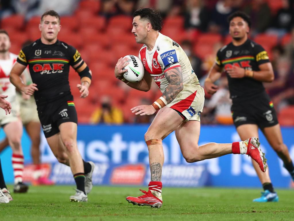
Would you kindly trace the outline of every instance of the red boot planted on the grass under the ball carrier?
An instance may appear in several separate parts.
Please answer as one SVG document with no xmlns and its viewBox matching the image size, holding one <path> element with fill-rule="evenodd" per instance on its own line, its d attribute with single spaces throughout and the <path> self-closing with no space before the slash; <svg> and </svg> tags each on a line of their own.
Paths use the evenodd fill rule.
<svg viewBox="0 0 294 221">
<path fill-rule="evenodd" d="M 144 195 L 139 197 L 127 197 L 126 200 L 129 203 L 138 206 L 151 206 L 155 208 L 160 208 L 162 206 L 162 197 L 160 197 L 161 199 L 157 198 L 151 193 L 150 189 L 148 190 L 148 192 L 143 189 L 140 190 L 144 193 Z"/>
</svg>

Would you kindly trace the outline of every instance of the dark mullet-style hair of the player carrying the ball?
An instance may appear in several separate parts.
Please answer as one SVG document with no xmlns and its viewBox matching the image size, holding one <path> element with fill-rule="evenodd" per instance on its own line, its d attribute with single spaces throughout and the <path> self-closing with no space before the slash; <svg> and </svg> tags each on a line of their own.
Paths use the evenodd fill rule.
<svg viewBox="0 0 294 221">
<path fill-rule="evenodd" d="M 155 31 L 161 31 L 163 19 L 161 17 L 160 10 L 154 10 L 152 8 L 141 8 L 134 12 L 133 17 L 136 16 L 140 16 L 140 19 L 147 19 Z"/>
</svg>

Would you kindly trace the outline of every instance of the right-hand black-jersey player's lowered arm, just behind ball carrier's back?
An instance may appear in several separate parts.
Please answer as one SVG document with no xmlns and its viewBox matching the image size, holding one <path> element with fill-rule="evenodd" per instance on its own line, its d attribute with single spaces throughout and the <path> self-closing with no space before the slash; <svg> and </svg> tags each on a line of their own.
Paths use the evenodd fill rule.
<svg viewBox="0 0 294 221">
<path fill-rule="evenodd" d="M 209 94 L 214 94 L 218 90 L 218 86 L 214 84 L 221 76 L 222 67 L 214 64 L 205 79 L 204 88 Z"/>
</svg>

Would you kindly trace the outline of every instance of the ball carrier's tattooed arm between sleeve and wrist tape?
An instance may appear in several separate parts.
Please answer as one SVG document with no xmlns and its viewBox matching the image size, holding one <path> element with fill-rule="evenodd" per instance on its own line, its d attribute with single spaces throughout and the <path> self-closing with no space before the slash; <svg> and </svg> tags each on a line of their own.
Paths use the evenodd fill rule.
<svg viewBox="0 0 294 221">
<path fill-rule="evenodd" d="M 166 99 L 167 103 L 171 103 L 178 93 L 183 90 L 183 75 L 179 67 L 168 70 L 165 75 L 169 85 L 163 92 L 163 97 Z"/>
</svg>

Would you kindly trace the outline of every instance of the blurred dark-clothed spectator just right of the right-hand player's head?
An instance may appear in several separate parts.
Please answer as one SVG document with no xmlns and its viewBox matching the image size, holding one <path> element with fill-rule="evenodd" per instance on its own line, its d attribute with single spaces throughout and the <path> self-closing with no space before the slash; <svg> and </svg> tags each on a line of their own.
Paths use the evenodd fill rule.
<svg viewBox="0 0 294 221">
<path fill-rule="evenodd" d="M 252 35 L 264 32 L 270 25 L 270 7 L 265 0 L 252 0 L 243 9 L 251 17 L 252 25 L 250 32 Z"/>
</svg>

